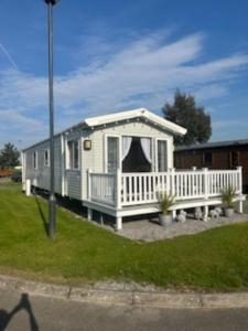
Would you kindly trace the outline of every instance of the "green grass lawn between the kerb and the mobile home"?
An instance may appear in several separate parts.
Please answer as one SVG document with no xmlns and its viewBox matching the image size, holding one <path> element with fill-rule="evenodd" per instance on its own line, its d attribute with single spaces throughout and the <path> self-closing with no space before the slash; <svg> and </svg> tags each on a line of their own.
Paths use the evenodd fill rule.
<svg viewBox="0 0 248 331">
<path fill-rule="evenodd" d="M 40 205 L 40 210 L 39 210 Z M 47 205 L 0 183 L 0 273 L 80 285 L 115 279 L 163 287 L 248 289 L 248 223 L 155 243 L 138 243 L 57 210 L 57 234 L 44 231 Z"/>
</svg>

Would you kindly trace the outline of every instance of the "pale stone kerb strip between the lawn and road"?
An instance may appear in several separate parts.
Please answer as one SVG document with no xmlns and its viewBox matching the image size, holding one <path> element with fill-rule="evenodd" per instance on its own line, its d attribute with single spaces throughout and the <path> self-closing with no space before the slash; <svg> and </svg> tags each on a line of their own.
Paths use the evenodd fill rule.
<svg viewBox="0 0 248 331">
<path fill-rule="evenodd" d="M 248 292 L 202 293 L 77 288 L 22 280 L 0 275 L 0 288 L 34 296 L 100 305 L 149 306 L 154 308 L 248 308 Z"/>
</svg>

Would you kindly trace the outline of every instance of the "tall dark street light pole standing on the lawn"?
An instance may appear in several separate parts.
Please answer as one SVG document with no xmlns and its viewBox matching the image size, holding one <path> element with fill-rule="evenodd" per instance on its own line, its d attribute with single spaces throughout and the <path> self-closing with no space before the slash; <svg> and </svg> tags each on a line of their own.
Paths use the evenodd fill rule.
<svg viewBox="0 0 248 331">
<path fill-rule="evenodd" d="M 54 192 L 54 103 L 53 103 L 53 6 L 58 0 L 44 0 L 48 8 L 48 81 L 50 81 L 50 201 L 48 236 L 56 229 L 56 200 Z"/>
</svg>

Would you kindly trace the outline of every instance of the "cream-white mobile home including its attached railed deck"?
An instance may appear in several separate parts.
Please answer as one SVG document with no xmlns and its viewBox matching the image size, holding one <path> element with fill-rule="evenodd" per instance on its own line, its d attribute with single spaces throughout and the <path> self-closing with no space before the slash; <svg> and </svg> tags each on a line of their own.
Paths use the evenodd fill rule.
<svg viewBox="0 0 248 331">
<path fill-rule="evenodd" d="M 55 136 L 55 192 L 116 217 L 159 211 L 158 192 L 176 195 L 176 209 L 220 203 L 236 188 L 241 211 L 241 171 L 173 169 L 173 136 L 186 130 L 141 108 L 85 119 Z M 48 140 L 23 150 L 23 184 L 50 189 Z"/>
</svg>

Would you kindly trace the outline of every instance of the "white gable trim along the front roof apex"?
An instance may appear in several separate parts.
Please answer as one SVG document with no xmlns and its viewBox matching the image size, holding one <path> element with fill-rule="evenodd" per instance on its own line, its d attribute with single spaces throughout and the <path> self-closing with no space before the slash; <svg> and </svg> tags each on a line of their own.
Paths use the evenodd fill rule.
<svg viewBox="0 0 248 331">
<path fill-rule="evenodd" d="M 110 114 L 110 115 L 86 118 L 85 124 L 88 127 L 96 127 L 96 126 L 106 125 L 109 122 L 115 122 L 115 121 L 126 120 L 126 119 L 131 119 L 131 118 L 138 118 L 138 117 L 147 118 L 148 120 L 150 120 L 150 121 L 152 121 L 176 135 L 184 136 L 186 134 L 185 128 L 183 128 L 172 121 L 169 121 L 169 120 L 151 113 L 150 110 L 148 110 L 145 108 L 138 108 L 138 109 L 133 109 L 133 110 L 127 110 L 127 111 L 120 111 L 120 113 L 115 113 L 115 114 Z"/>
</svg>

